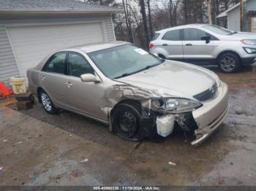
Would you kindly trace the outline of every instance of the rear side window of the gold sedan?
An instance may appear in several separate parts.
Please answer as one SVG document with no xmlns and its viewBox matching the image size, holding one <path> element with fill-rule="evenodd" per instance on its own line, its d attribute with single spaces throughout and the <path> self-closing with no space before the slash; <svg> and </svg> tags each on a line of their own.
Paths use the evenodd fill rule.
<svg viewBox="0 0 256 191">
<path fill-rule="evenodd" d="M 50 59 L 45 63 L 42 71 L 54 72 L 58 74 L 64 74 L 65 71 L 65 52 L 59 52 L 52 55 Z"/>
</svg>

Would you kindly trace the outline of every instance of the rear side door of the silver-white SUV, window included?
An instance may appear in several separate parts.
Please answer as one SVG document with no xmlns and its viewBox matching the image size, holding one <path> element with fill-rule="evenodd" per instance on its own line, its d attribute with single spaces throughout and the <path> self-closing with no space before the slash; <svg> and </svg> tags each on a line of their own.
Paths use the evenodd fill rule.
<svg viewBox="0 0 256 191">
<path fill-rule="evenodd" d="M 168 59 L 183 58 L 181 30 L 165 32 L 161 39 L 161 45 L 166 50 Z"/>
</svg>

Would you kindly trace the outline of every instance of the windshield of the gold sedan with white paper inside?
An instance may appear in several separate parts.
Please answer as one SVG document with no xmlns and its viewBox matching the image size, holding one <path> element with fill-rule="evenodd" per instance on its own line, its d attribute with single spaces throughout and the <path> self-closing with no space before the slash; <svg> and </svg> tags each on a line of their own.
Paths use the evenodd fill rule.
<svg viewBox="0 0 256 191">
<path fill-rule="evenodd" d="M 162 63 L 162 59 L 131 44 L 90 52 L 89 57 L 109 78 L 125 77 Z"/>
</svg>

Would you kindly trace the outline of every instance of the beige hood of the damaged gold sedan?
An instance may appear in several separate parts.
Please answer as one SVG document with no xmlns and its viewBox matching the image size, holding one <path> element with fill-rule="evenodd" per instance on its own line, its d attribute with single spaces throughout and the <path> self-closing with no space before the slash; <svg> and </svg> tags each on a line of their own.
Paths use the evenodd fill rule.
<svg viewBox="0 0 256 191">
<path fill-rule="evenodd" d="M 216 82 L 211 71 L 199 66 L 176 61 L 165 61 L 159 66 L 116 79 L 161 97 L 192 98 L 211 88 Z"/>
</svg>

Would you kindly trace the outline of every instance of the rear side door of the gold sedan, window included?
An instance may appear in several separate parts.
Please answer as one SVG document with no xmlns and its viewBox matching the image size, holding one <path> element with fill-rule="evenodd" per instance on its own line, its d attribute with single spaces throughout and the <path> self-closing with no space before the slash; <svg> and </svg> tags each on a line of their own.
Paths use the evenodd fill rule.
<svg viewBox="0 0 256 191">
<path fill-rule="evenodd" d="M 42 88 L 48 93 L 53 104 L 64 107 L 69 105 L 66 85 L 68 77 L 65 75 L 66 57 L 67 52 L 57 52 L 52 55 L 39 76 Z"/>
</svg>

